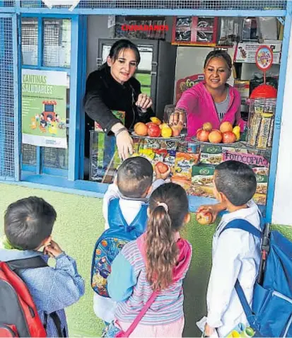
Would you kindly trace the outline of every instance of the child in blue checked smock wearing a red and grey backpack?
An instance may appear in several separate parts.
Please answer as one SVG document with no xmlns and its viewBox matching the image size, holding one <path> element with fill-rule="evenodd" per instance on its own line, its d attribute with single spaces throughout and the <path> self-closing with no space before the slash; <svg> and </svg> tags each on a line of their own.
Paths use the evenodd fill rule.
<svg viewBox="0 0 292 338">
<path fill-rule="evenodd" d="M 52 240 L 56 217 L 38 197 L 20 199 L 6 210 L 0 240 L 0 337 L 68 337 L 64 308 L 83 296 L 84 281 L 75 260 Z M 47 265 L 49 257 L 55 267 Z"/>
</svg>

